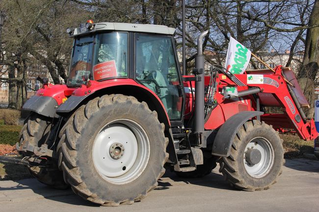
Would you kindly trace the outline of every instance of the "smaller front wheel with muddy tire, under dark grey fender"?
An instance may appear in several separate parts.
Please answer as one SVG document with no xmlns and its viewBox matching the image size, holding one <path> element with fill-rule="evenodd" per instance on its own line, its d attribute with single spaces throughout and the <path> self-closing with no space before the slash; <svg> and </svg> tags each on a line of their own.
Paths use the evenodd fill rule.
<svg viewBox="0 0 319 212">
<path fill-rule="evenodd" d="M 230 156 L 220 160 L 219 171 L 236 188 L 268 189 L 277 182 L 285 163 L 282 142 L 270 125 L 248 121 L 239 128 Z"/>
</svg>

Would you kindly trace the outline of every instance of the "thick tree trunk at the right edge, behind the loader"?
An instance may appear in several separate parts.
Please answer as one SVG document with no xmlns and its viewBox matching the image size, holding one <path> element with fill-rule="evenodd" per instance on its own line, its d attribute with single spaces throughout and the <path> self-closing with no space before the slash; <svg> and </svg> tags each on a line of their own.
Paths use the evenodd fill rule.
<svg viewBox="0 0 319 212">
<path fill-rule="evenodd" d="M 319 24 L 319 0 L 315 1 L 308 26 Z M 319 26 L 307 29 L 305 54 L 298 78 L 315 81 L 319 69 Z"/>
</svg>

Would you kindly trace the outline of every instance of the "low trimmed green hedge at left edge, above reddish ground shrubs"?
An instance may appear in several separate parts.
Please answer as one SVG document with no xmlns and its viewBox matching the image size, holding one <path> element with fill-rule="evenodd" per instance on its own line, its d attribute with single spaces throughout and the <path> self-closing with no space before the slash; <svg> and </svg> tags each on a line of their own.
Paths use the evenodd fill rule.
<svg viewBox="0 0 319 212">
<path fill-rule="evenodd" d="M 15 145 L 19 141 L 22 126 L 0 125 L 0 144 Z"/>
</svg>

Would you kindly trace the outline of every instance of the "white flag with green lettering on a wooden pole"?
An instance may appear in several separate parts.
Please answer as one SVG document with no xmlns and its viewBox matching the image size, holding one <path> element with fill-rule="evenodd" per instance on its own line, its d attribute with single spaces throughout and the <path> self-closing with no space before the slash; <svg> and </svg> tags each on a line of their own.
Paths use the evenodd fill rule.
<svg viewBox="0 0 319 212">
<path fill-rule="evenodd" d="M 251 51 L 230 37 L 225 69 L 234 74 L 243 73 L 249 63 Z"/>
</svg>

